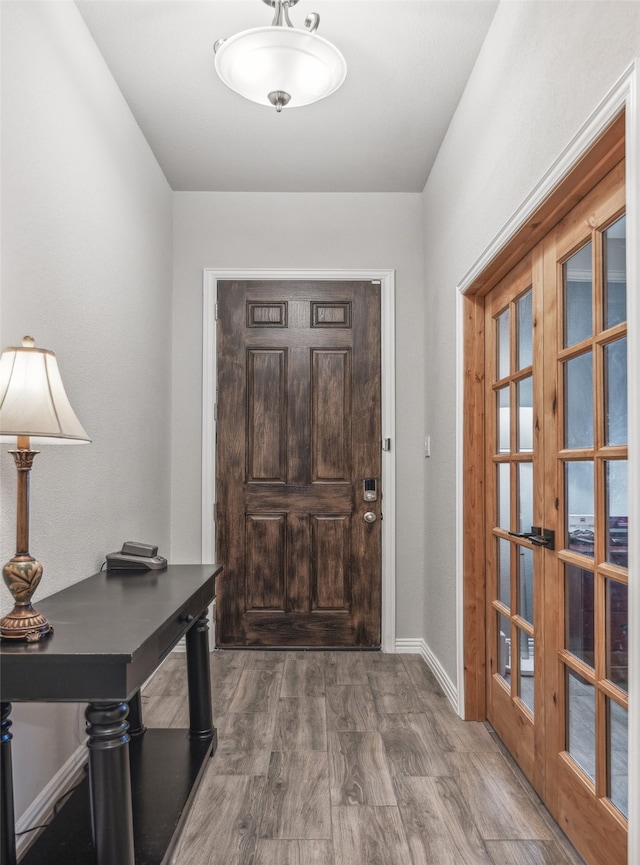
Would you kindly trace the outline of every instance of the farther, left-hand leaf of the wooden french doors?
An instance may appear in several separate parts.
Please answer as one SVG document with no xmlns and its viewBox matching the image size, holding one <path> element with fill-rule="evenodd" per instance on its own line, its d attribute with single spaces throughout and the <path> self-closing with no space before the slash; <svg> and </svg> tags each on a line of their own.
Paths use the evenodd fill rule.
<svg viewBox="0 0 640 865">
<path fill-rule="evenodd" d="M 487 717 L 543 789 L 539 722 L 544 526 L 540 250 L 530 253 L 485 305 L 487 418 Z"/>
</svg>

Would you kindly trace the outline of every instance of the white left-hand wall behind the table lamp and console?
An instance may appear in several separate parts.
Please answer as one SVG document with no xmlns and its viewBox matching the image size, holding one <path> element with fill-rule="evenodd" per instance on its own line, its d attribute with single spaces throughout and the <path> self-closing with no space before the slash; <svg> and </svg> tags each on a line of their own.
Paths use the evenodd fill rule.
<svg viewBox="0 0 640 865">
<path fill-rule="evenodd" d="M 75 5 L 0 11 L 2 347 L 30 334 L 56 352 L 93 439 L 36 457 L 37 606 L 95 573 L 123 540 L 169 550 L 171 190 Z M 0 466 L 5 562 L 15 469 L 6 453 Z M 4 586 L 1 595 L 4 614 Z M 15 706 L 18 816 L 81 741 L 79 715 Z"/>
</svg>

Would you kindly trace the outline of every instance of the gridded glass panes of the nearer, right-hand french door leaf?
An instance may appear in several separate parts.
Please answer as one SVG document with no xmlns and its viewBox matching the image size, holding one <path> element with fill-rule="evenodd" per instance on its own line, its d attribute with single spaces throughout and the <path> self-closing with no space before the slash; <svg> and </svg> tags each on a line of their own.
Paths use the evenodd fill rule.
<svg viewBox="0 0 640 865">
<path fill-rule="evenodd" d="M 626 221 L 606 211 L 601 211 L 600 219 L 601 224 L 596 218 L 582 223 L 587 229 L 583 237 L 559 230 L 556 249 L 562 281 L 562 321 L 556 330 L 562 395 L 558 575 L 564 605 L 558 657 L 564 695 L 560 750 L 566 766 L 560 785 L 579 787 L 583 795 L 588 792 L 595 809 L 588 819 L 617 813 L 618 822 L 614 819 L 612 825 L 622 831 L 628 810 L 630 530 Z M 573 249 L 562 257 L 564 243 Z"/>
</svg>

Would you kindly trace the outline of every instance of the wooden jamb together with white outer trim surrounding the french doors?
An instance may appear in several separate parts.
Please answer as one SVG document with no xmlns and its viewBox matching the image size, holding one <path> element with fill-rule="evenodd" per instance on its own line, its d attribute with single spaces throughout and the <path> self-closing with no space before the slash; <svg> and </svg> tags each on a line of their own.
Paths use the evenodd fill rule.
<svg viewBox="0 0 640 865">
<path fill-rule="evenodd" d="M 465 275 L 459 289 L 459 707 L 467 719 L 486 717 L 484 525 L 484 296 L 626 157 L 628 236 L 640 236 L 640 95 L 632 64 L 532 195 Z M 640 522 L 640 264 L 637 240 L 628 245 L 629 519 Z M 630 539 L 629 652 L 640 651 L 640 533 Z M 629 717 L 629 859 L 640 861 L 640 670 L 632 670 Z"/>
</svg>

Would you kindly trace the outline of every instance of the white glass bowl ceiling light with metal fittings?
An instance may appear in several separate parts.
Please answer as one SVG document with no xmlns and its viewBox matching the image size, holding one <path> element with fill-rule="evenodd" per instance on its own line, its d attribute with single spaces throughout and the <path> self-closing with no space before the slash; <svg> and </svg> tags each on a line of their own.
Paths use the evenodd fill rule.
<svg viewBox="0 0 640 865">
<path fill-rule="evenodd" d="M 213 46 L 216 72 L 227 87 L 278 112 L 330 96 L 347 74 L 342 54 L 315 32 L 319 15 L 307 16 L 305 30 L 293 26 L 289 7 L 297 2 L 263 0 L 275 8 L 270 27 L 243 30 Z"/>
</svg>

